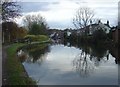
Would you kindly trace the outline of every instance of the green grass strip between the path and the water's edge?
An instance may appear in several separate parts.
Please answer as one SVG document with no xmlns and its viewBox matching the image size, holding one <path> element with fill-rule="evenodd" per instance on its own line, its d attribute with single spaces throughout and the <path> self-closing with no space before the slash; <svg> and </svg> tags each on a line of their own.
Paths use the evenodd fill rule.
<svg viewBox="0 0 120 87">
<path fill-rule="evenodd" d="M 25 44 L 16 43 L 7 48 L 6 68 L 9 85 L 35 85 L 36 82 L 29 78 L 19 59 L 16 57 L 16 50 Z"/>
</svg>

